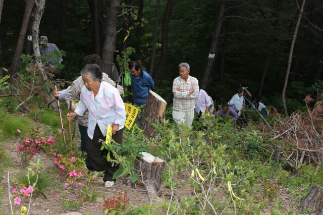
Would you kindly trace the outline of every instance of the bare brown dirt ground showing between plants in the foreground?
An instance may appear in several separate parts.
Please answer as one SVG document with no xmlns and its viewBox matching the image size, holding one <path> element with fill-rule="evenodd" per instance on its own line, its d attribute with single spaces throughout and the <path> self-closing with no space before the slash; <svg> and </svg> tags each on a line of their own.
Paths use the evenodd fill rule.
<svg viewBox="0 0 323 215">
<path fill-rule="evenodd" d="M 35 123 L 33 126 L 40 125 L 40 123 Z M 42 125 L 41 125 L 42 126 Z M 11 214 L 10 210 L 10 203 L 8 198 L 8 174 L 10 180 L 13 180 L 14 178 L 19 178 L 21 175 L 26 174 L 28 172 L 28 168 L 23 169 L 20 165 L 20 155 L 17 153 L 16 148 L 18 147 L 20 142 L 20 139 L 18 137 L 15 137 L 13 139 L 7 139 L 3 142 L 1 142 L 0 146 L 4 148 L 6 156 L 10 159 L 10 162 L 8 165 L 4 166 L 3 171 L 3 180 L 0 183 L 0 187 L 3 186 L 3 200 L 2 204 L 0 204 L 0 211 L 4 211 L 4 214 Z M 102 177 L 97 180 L 96 183 L 92 184 L 89 190 L 89 193 L 92 193 L 93 190 L 96 190 L 98 192 L 98 197 L 94 202 L 86 201 L 81 207 L 77 209 L 63 209 L 62 208 L 62 198 L 63 193 L 66 189 L 71 188 L 63 181 L 60 180 L 60 177 L 54 169 L 56 167 L 53 166 L 54 158 L 51 156 L 46 156 L 45 152 L 40 150 L 37 152 L 37 154 L 32 158 L 32 162 L 36 163 L 37 159 L 40 158 L 40 163 L 45 166 L 45 171 L 50 173 L 50 178 L 48 180 L 50 181 L 51 186 L 46 188 L 41 194 L 34 195 L 31 200 L 31 206 L 29 214 L 84 214 L 84 212 L 88 212 L 87 214 L 104 214 L 103 212 L 103 196 L 106 198 L 118 196 L 119 192 L 127 193 L 127 196 L 129 198 L 129 203 L 133 207 L 140 207 L 141 205 L 149 205 L 150 199 L 148 193 L 143 188 L 136 188 L 129 183 L 125 183 L 125 178 L 119 179 L 116 184 L 112 188 L 105 188 L 104 183 L 102 180 Z M 84 167 L 86 168 L 86 167 Z M 181 196 L 190 196 L 193 195 L 193 189 L 191 186 L 188 186 L 190 176 L 188 174 L 178 174 L 174 176 L 175 182 L 176 182 L 176 189 L 174 190 L 174 196 L 176 196 L 177 199 L 181 199 Z M 274 180 L 274 179 L 273 179 Z M 85 180 L 84 180 L 85 182 Z M 263 183 L 275 183 L 274 181 L 271 181 L 271 179 L 268 179 L 266 182 L 259 181 L 259 186 Z M 10 190 L 12 190 L 14 187 L 14 183 L 10 183 Z M 226 184 L 219 185 L 221 189 L 217 189 L 214 197 L 216 200 L 222 202 L 225 198 L 228 197 L 227 191 L 228 187 Z M 219 186 L 217 188 L 219 188 Z M 261 191 L 264 188 L 260 188 L 257 193 L 253 193 L 252 196 L 254 198 L 254 201 L 256 202 L 262 202 L 266 197 L 263 195 L 263 192 Z M 288 188 L 286 187 L 279 187 L 278 189 L 278 195 L 276 196 L 277 199 L 283 200 L 280 201 L 280 210 L 281 211 L 297 211 L 297 207 L 299 205 L 299 197 L 295 197 L 294 195 L 287 194 L 286 190 Z M 300 188 L 302 189 L 302 188 Z M 160 198 L 153 199 L 153 202 L 157 202 L 159 204 L 159 209 L 157 208 L 156 211 L 161 211 L 165 209 L 161 207 L 161 205 L 168 205 L 169 200 L 171 199 L 172 191 L 171 189 L 167 188 L 165 184 L 161 185 L 161 190 L 159 191 Z M 73 192 L 70 192 L 69 194 L 66 194 L 65 198 L 75 198 L 75 194 Z M 251 195 L 251 194 L 250 194 Z M 13 204 L 13 202 L 12 202 Z M 29 201 L 26 200 L 23 205 L 27 206 L 28 208 Z M 16 207 L 16 211 L 19 211 L 21 208 L 21 205 L 14 205 Z M 273 212 L 273 208 L 275 208 L 277 205 L 275 205 L 275 199 L 267 200 L 264 204 L 263 209 L 261 210 L 264 214 L 271 214 Z M 167 209 L 167 208 L 166 208 Z M 153 212 L 156 212 L 153 211 Z M 165 210 L 166 211 L 166 210 Z M 220 211 L 221 212 L 221 211 Z M 252 214 L 252 213 L 251 213 Z"/>
</svg>

